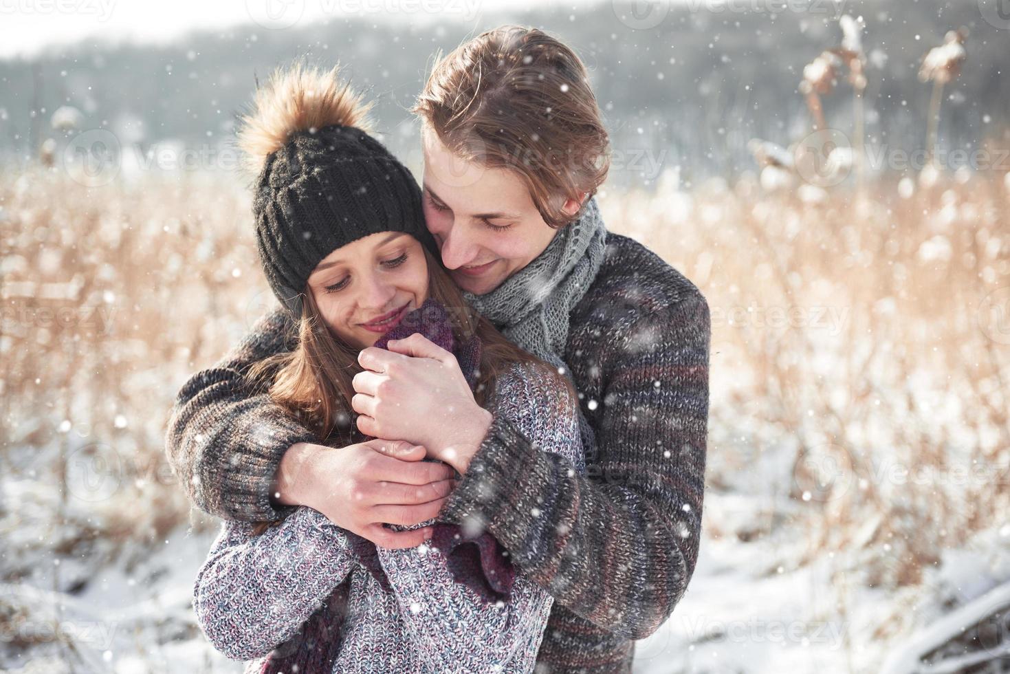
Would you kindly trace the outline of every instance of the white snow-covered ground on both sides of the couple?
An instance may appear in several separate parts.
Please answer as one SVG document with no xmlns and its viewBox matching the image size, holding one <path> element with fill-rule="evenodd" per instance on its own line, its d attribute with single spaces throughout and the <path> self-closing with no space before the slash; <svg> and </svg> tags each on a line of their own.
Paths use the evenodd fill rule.
<svg viewBox="0 0 1010 674">
<path fill-rule="evenodd" d="M 4 493 L 17 497 L 23 485 L 7 481 Z M 731 512 L 741 505 L 712 494 L 706 507 Z M 193 578 L 214 534 L 213 527 L 180 525 L 164 547 L 139 557 L 124 551 L 119 562 L 99 568 L 39 554 L 30 584 L 0 586 L 3 616 L 23 616 L 0 633 L 0 668 L 23 674 L 240 672 L 240 663 L 214 652 L 203 638 L 190 606 Z M 803 545 L 802 537 L 792 543 L 706 538 L 674 614 L 637 644 L 635 672 L 880 671 L 888 654 L 951 608 L 1010 581 L 1010 525 L 949 551 L 926 582 L 901 593 L 863 587 L 855 560 L 839 555 L 789 568 L 794 548 Z M 80 579 L 87 580 L 80 591 L 44 589 Z M 888 639 L 874 635 L 896 619 L 900 632 Z M 33 643 L 22 650 L 27 642 Z"/>
</svg>

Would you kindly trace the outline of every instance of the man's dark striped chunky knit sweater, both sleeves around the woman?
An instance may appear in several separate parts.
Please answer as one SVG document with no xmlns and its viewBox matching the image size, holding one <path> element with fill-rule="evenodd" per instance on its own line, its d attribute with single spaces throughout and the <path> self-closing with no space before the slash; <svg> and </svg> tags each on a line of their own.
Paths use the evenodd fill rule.
<svg viewBox="0 0 1010 674">
<path fill-rule="evenodd" d="M 167 451 L 193 501 L 238 520 L 275 519 L 281 457 L 313 434 L 242 372 L 291 349 L 281 308 L 191 377 Z M 439 519 L 478 521 L 553 597 L 538 672 L 630 671 L 633 644 L 667 619 L 694 573 L 708 427 L 709 308 L 677 270 L 607 233 L 606 259 L 571 315 L 565 361 L 595 435 L 587 473 L 495 418 Z"/>
</svg>

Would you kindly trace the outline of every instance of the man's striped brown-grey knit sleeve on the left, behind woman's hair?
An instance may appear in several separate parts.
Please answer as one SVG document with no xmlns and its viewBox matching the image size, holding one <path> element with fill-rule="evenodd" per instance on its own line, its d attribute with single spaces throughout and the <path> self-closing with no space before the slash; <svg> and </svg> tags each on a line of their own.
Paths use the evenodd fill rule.
<svg viewBox="0 0 1010 674">
<path fill-rule="evenodd" d="M 197 372 L 176 398 L 166 435 L 169 465 L 190 500 L 223 519 L 280 519 L 295 506 L 271 500 L 281 458 L 292 445 L 316 443 L 308 427 L 265 392 L 249 389 L 245 369 L 294 348 L 292 320 L 277 306 L 213 367 Z"/>
</svg>

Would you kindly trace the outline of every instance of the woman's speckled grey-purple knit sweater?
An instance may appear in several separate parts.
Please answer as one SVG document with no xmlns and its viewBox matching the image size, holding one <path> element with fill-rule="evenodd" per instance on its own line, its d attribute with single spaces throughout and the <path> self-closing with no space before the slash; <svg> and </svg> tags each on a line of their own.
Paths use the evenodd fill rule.
<svg viewBox="0 0 1010 674">
<path fill-rule="evenodd" d="M 512 366 L 491 405 L 544 452 L 584 467 L 574 401 L 542 369 Z M 346 582 L 333 672 L 533 670 L 552 599 L 525 574 L 516 574 L 506 601 L 487 602 L 453 580 L 438 549 L 380 548 L 387 592 L 346 532 L 312 508 L 298 507 L 260 536 L 252 526 L 225 522 L 195 583 L 198 622 L 228 657 L 264 658 Z"/>
</svg>

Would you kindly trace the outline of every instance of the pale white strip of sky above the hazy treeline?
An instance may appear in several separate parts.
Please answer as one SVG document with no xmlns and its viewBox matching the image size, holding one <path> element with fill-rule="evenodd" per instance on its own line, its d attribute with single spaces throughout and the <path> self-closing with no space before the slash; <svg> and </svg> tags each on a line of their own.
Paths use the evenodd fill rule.
<svg viewBox="0 0 1010 674">
<path fill-rule="evenodd" d="M 54 45 L 103 37 L 165 42 L 194 29 L 258 23 L 264 28 L 304 25 L 326 16 L 357 14 L 376 20 L 462 21 L 530 5 L 574 7 L 567 0 L 0 0 L 0 57 L 31 56 Z M 610 2 L 606 3 L 609 10 Z"/>
</svg>

